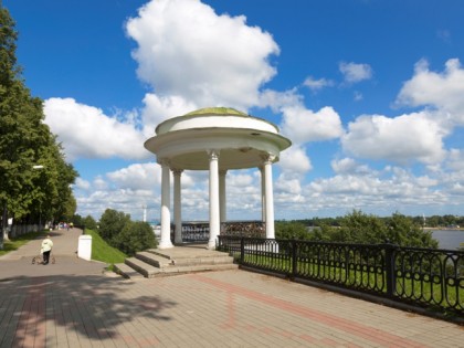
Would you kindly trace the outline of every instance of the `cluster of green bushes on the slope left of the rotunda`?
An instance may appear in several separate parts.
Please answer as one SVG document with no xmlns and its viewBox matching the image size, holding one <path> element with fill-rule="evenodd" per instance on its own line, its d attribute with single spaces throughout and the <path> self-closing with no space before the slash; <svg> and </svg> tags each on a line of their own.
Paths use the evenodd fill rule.
<svg viewBox="0 0 464 348">
<path fill-rule="evenodd" d="M 106 209 L 98 225 L 92 217 L 75 215 L 74 224 L 95 230 L 109 245 L 127 255 L 156 247 L 157 240 L 148 222 L 131 221 L 130 215 L 113 209 Z"/>
</svg>

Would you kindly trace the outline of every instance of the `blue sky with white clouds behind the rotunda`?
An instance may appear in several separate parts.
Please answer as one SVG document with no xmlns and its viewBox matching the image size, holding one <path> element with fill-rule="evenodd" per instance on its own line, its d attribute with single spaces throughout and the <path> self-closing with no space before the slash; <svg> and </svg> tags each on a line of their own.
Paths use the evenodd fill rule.
<svg viewBox="0 0 464 348">
<path fill-rule="evenodd" d="M 464 215 L 461 0 L 3 0 L 18 63 L 80 177 L 77 213 L 160 217 L 156 126 L 225 106 L 278 126 L 277 220 Z M 172 181 L 171 181 L 172 182 Z M 260 220 L 257 169 L 226 176 L 229 220 Z M 208 220 L 208 172 L 182 173 Z"/>
</svg>

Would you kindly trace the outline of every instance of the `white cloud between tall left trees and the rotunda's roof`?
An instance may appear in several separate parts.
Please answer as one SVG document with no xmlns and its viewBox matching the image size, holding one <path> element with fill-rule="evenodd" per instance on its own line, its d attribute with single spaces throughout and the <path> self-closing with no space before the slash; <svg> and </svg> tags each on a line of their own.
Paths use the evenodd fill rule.
<svg viewBox="0 0 464 348">
<path fill-rule="evenodd" d="M 77 158 L 141 159 L 149 156 L 144 136 L 130 123 L 122 123 L 102 109 L 73 98 L 50 98 L 44 103 L 45 124 L 63 144 L 67 160 Z"/>
</svg>

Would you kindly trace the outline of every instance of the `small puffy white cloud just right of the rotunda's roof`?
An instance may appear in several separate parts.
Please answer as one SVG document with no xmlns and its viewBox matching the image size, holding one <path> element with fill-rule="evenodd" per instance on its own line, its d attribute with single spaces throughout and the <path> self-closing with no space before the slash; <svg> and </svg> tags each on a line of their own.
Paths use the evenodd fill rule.
<svg viewBox="0 0 464 348">
<path fill-rule="evenodd" d="M 341 136 L 340 116 L 326 106 L 318 112 L 302 105 L 283 107 L 282 133 L 296 144 L 335 139 Z"/>
</svg>

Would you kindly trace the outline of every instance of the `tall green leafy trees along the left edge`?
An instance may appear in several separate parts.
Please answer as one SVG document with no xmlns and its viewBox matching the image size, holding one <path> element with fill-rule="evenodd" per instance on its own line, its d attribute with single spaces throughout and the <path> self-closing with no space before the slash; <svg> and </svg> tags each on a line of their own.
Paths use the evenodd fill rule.
<svg viewBox="0 0 464 348">
<path fill-rule="evenodd" d="M 24 85 L 17 64 L 17 40 L 14 21 L 0 3 L 0 249 L 8 238 L 9 218 L 39 223 L 75 211 L 70 186 L 77 172 L 66 164 L 56 137 L 43 123 L 43 102 Z"/>
</svg>

